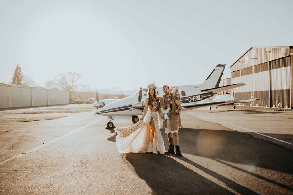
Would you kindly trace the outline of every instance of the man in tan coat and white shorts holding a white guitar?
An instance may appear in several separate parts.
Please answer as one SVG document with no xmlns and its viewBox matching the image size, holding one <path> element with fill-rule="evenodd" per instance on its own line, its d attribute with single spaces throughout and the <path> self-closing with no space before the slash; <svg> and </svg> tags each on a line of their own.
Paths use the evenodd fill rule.
<svg viewBox="0 0 293 195">
<path fill-rule="evenodd" d="M 174 144 L 176 147 L 176 155 L 182 156 L 180 147 L 179 147 L 179 137 L 178 137 L 178 129 L 182 127 L 179 110 L 181 108 L 180 104 L 180 94 L 177 89 L 173 89 L 173 93 L 170 92 L 170 87 L 168 85 L 163 85 L 163 92 L 164 95 L 161 98 L 161 105 L 160 108 L 163 110 L 167 110 L 171 108 L 171 111 L 176 111 L 169 115 L 169 120 L 165 120 L 163 122 L 162 127 L 165 128 L 165 133 L 168 133 L 168 140 L 169 140 L 169 149 L 165 152 L 165 154 L 174 154 Z M 165 119 L 163 114 L 161 113 L 161 109 L 159 109 L 159 115 L 162 119 Z M 173 144 L 174 143 L 174 144 Z"/>
</svg>

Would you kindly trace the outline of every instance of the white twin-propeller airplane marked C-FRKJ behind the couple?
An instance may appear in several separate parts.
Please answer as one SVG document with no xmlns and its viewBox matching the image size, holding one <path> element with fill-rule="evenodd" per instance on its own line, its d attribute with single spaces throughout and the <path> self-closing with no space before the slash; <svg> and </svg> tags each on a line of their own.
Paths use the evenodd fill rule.
<svg viewBox="0 0 293 195">
<path fill-rule="evenodd" d="M 201 102 L 204 99 L 214 96 L 217 92 L 246 85 L 244 83 L 237 83 L 219 87 L 225 66 L 225 64 L 218 64 L 202 84 L 173 86 L 178 87 L 180 91 L 181 106 L 185 107 L 186 110 L 189 110 L 227 103 L 226 101 Z M 170 89 L 172 89 L 173 87 L 170 87 Z M 114 128 L 114 124 L 112 122 L 112 120 L 114 120 L 114 117 L 118 119 L 132 118 L 132 122 L 136 123 L 139 121 L 137 115 L 143 114 L 144 100 L 147 98 L 147 90 L 147 88 L 141 87 L 131 96 L 125 97 L 123 99 L 110 103 L 107 106 L 104 106 L 99 111 L 97 111 L 96 114 L 108 116 L 109 122 L 107 123 L 107 129 Z M 156 93 L 158 96 L 163 96 L 162 87 L 157 87 Z"/>
</svg>

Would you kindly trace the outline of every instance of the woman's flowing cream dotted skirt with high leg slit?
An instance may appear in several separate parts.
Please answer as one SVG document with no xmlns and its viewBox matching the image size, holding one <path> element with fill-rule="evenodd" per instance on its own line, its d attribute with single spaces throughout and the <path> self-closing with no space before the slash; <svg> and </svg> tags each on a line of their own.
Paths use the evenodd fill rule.
<svg viewBox="0 0 293 195">
<path fill-rule="evenodd" d="M 154 120 L 156 130 L 154 131 L 153 153 L 164 154 L 165 146 L 160 131 L 158 112 L 148 111 L 141 120 L 130 127 L 115 128 L 117 132 L 116 145 L 120 153 L 147 153 L 150 152 L 151 144 L 151 118 Z"/>
</svg>

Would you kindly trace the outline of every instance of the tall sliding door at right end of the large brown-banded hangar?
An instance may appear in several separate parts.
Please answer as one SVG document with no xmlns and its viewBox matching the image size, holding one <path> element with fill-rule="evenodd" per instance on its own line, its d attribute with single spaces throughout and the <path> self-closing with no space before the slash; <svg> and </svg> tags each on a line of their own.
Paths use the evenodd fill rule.
<svg viewBox="0 0 293 195">
<path fill-rule="evenodd" d="M 270 106 L 291 108 L 290 100 L 291 71 L 289 56 L 270 62 Z"/>
</svg>

